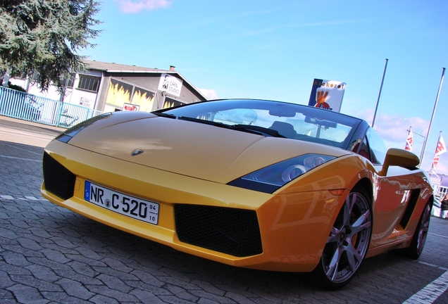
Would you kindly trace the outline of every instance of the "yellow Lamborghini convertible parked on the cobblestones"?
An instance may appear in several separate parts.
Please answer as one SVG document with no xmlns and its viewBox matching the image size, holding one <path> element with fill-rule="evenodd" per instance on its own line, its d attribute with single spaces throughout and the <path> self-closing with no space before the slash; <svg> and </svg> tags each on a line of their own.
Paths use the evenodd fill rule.
<svg viewBox="0 0 448 304">
<path fill-rule="evenodd" d="M 433 189 L 364 120 L 263 100 L 99 115 L 46 146 L 42 195 L 179 251 L 347 284 L 423 250 Z"/>
</svg>

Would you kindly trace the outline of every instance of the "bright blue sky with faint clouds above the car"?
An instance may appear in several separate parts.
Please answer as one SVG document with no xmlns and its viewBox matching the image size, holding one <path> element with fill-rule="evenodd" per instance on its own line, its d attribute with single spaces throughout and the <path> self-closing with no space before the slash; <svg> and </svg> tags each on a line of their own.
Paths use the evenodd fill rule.
<svg viewBox="0 0 448 304">
<path fill-rule="evenodd" d="M 347 83 L 341 112 L 372 122 L 404 148 L 412 126 L 421 155 L 442 68 L 448 68 L 448 1 L 106 0 L 91 60 L 168 70 L 214 98 L 307 104 L 314 78 Z M 446 73 L 448 74 L 448 72 Z M 445 77 L 421 167 L 439 133 L 448 144 Z M 448 175 L 448 153 L 437 173 Z"/>
</svg>

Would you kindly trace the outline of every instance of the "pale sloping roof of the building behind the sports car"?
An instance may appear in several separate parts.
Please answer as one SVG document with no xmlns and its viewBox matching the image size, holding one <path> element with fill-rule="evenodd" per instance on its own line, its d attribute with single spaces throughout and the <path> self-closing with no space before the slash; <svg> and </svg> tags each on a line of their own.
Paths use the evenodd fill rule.
<svg viewBox="0 0 448 304">
<path fill-rule="evenodd" d="M 137 65 L 123 65 L 120 63 L 106 63 L 102 61 L 89 61 L 85 60 L 85 63 L 87 63 L 87 69 L 88 70 L 101 70 L 104 72 L 127 72 L 127 73 L 165 73 L 165 74 L 177 74 L 184 82 L 186 82 L 190 87 L 192 87 L 195 91 L 197 91 L 201 96 L 207 100 L 206 96 L 199 91 L 194 85 L 188 82 L 188 80 L 185 79 L 182 75 L 180 75 L 180 72 L 174 70 L 174 66 L 170 65 L 169 70 L 161 70 L 158 68 L 144 68 L 139 67 Z"/>
</svg>

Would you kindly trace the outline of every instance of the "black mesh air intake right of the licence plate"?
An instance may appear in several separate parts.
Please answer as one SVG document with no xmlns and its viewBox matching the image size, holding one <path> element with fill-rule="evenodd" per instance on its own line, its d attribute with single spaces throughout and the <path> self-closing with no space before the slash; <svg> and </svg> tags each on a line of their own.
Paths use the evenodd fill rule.
<svg viewBox="0 0 448 304">
<path fill-rule="evenodd" d="M 184 243 L 237 257 L 263 252 L 254 210 L 177 204 L 175 225 Z"/>
</svg>

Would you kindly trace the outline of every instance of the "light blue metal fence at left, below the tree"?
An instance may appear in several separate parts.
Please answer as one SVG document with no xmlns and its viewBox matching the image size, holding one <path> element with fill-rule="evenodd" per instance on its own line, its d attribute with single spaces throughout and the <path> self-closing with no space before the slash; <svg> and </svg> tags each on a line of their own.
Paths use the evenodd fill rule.
<svg viewBox="0 0 448 304">
<path fill-rule="evenodd" d="M 69 128 L 101 113 L 0 86 L 0 115 L 11 118 Z"/>
</svg>

